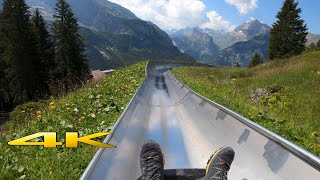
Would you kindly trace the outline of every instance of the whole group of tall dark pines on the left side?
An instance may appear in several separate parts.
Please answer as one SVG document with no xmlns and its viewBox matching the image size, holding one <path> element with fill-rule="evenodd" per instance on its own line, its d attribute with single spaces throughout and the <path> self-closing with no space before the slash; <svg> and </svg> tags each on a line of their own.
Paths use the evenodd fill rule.
<svg viewBox="0 0 320 180">
<path fill-rule="evenodd" d="M 24 0 L 3 1 L 0 111 L 69 92 L 89 78 L 79 25 L 65 0 L 57 0 L 53 19 L 48 25 L 38 9 L 31 14 Z"/>
</svg>

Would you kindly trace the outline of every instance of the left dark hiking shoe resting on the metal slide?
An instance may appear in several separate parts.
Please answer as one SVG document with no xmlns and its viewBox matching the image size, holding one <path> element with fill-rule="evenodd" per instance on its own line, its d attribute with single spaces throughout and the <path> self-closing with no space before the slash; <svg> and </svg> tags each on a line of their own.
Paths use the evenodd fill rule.
<svg viewBox="0 0 320 180">
<path fill-rule="evenodd" d="M 154 141 L 147 141 L 140 154 L 142 180 L 163 180 L 164 158 L 161 147 Z"/>
</svg>

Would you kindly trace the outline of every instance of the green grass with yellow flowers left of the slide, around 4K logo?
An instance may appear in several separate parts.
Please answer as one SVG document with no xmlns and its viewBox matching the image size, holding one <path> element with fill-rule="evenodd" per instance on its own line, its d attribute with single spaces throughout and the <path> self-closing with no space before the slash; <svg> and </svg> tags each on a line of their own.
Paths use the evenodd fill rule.
<svg viewBox="0 0 320 180">
<path fill-rule="evenodd" d="M 11 140 L 37 132 L 89 135 L 112 128 L 145 77 L 145 63 L 120 69 L 62 99 L 17 107 L 0 132 L 0 179 L 78 179 L 97 148 L 9 146 Z M 102 140 L 102 139 L 100 139 Z M 41 140 L 39 140 L 41 141 Z"/>
</svg>

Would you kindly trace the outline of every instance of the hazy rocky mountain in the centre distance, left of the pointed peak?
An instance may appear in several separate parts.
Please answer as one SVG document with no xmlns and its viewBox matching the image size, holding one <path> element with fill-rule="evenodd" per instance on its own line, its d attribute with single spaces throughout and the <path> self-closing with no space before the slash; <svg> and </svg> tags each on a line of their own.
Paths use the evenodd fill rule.
<svg viewBox="0 0 320 180">
<path fill-rule="evenodd" d="M 212 56 L 219 51 L 219 47 L 213 42 L 213 38 L 199 28 L 186 28 L 170 36 L 181 52 L 190 55 L 195 59 L 203 56 Z"/>
</svg>

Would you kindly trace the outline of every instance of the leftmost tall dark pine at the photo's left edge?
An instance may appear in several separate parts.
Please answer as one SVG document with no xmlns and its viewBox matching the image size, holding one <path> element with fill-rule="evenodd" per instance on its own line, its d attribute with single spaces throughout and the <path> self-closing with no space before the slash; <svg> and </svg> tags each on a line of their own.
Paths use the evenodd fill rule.
<svg viewBox="0 0 320 180">
<path fill-rule="evenodd" d="M 5 72 L 13 106 L 38 95 L 36 65 L 40 59 L 28 9 L 24 0 L 3 1 L 1 32 L 7 40 L 1 58 L 7 65 Z"/>
</svg>

